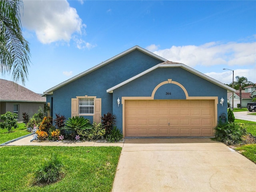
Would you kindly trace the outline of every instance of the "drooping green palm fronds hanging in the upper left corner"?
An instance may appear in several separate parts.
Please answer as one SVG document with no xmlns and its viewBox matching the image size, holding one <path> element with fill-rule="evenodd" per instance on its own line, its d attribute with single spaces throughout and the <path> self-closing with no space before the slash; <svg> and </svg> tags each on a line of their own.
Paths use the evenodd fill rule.
<svg viewBox="0 0 256 192">
<path fill-rule="evenodd" d="M 0 0 L 0 72 L 12 72 L 12 80 L 24 85 L 28 79 L 30 49 L 22 36 L 20 22 L 22 0 Z"/>
</svg>

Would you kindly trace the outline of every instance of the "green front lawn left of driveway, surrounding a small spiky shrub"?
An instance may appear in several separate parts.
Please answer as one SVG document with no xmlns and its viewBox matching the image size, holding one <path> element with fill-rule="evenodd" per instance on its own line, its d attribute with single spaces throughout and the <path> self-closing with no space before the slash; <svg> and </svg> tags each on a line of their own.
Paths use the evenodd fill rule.
<svg viewBox="0 0 256 192">
<path fill-rule="evenodd" d="M 121 147 L 4 146 L 0 148 L 0 191 L 111 192 Z M 33 173 L 55 153 L 66 165 L 59 182 L 33 186 Z"/>
</svg>

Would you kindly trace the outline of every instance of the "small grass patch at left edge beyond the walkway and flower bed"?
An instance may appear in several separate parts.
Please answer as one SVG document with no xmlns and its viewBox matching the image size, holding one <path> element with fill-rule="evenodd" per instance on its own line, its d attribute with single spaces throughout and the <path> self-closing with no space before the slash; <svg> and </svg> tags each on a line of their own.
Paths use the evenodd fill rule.
<svg viewBox="0 0 256 192">
<path fill-rule="evenodd" d="M 24 123 L 18 123 L 18 128 L 12 129 L 11 133 L 8 133 L 7 129 L 0 129 L 0 144 L 27 134 L 30 134 L 30 132 L 27 131 Z"/>
</svg>

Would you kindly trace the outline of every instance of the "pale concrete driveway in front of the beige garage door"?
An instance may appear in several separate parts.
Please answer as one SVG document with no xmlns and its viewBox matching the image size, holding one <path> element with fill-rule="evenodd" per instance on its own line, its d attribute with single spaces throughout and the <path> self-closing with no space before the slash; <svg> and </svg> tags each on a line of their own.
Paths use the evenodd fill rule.
<svg viewBox="0 0 256 192">
<path fill-rule="evenodd" d="M 112 192 L 256 191 L 256 164 L 209 138 L 126 139 Z"/>
</svg>

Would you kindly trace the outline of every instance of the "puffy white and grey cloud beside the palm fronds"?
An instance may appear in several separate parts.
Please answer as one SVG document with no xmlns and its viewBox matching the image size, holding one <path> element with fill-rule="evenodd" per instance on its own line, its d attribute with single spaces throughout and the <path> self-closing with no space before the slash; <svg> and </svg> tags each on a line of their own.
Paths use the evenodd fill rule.
<svg viewBox="0 0 256 192">
<path fill-rule="evenodd" d="M 43 1 L 24 0 L 24 16 L 22 25 L 28 30 L 35 31 L 43 44 L 56 41 L 69 42 L 72 34 L 84 32 L 85 24 L 66 0 Z"/>
</svg>

